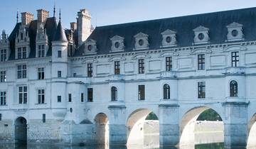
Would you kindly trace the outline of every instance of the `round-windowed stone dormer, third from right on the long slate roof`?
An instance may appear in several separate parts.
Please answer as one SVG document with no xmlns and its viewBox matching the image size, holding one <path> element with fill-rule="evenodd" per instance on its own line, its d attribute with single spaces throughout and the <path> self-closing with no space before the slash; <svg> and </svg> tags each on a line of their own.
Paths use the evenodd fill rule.
<svg viewBox="0 0 256 149">
<path fill-rule="evenodd" d="M 167 29 L 166 31 L 164 31 L 163 33 L 161 33 L 162 35 L 162 48 L 166 48 L 166 47 L 174 47 L 177 45 L 177 40 L 176 40 L 176 32 L 175 31 L 171 31 L 169 29 Z"/>
</svg>

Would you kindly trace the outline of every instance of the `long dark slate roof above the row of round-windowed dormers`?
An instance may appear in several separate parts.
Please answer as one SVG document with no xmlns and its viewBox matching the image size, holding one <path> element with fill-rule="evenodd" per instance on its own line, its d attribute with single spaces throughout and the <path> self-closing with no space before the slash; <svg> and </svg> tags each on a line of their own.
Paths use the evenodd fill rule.
<svg viewBox="0 0 256 149">
<path fill-rule="evenodd" d="M 124 52 L 132 52 L 134 35 L 142 32 L 149 35 L 149 50 L 152 50 L 161 47 L 161 33 L 170 29 L 176 31 L 177 46 L 186 47 L 193 43 L 193 29 L 204 26 L 209 28 L 210 44 L 225 43 L 228 33 L 226 26 L 233 22 L 243 25 L 245 41 L 256 40 L 256 8 L 100 26 L 95 28 L 89 39 L 96 40 L 97 54 L 101 55 L 110 53 L 112 45 L 110 38 L 119 35 L 124 38 Z M 81 45 L 75 56 L 82 55 L 84 48 L 85 45 Z"/>
</svg>

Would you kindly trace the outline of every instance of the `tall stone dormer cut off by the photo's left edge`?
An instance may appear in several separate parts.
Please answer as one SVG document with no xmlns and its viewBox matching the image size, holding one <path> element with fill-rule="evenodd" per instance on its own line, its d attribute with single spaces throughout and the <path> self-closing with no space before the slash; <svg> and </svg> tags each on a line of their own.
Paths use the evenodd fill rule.
<svg viewBox="0 0 256 149">
<path fill-rule="evenodd" d="M 8 36 L 5 31 L 2 31 L 0 38 L 0 62 L 5 62 L 8 60 L 10 55 L 10 45 Z"/>
</svg>

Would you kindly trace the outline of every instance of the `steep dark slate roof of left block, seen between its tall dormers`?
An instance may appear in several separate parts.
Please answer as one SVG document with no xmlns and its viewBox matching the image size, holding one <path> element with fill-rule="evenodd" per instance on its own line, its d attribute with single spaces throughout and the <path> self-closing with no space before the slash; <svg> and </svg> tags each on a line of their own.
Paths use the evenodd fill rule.
<svg viewBox="0 0 256 149">
<path fill-rule="evenodd" d="M 46 54 L 47 56 L 50 56 L 52 53 L 52 40 L 53 36 L 55 34 L 56 30 L 56 21 L 55 18 L 47 18 L 46 24 L 44 28 L 46 28 L 46 34 L 48 35 L 48 53 Z M 16 26 L 14 27 L 14 30 L 11 32 L 9 35 L 9 41 L 10 41 L 10 49 L 11 49 L 11 54 L 9 57 L 9 60 L 15 60 L 15 38 L 16 34 L 18 33 L 18 29 L 21 27 L 21 23 L 16 23 Z M 30 48 L 31 48 L 31 53 L 29 54 L 29 58 L 36 57 L 36 31 L 37 31 L 37 20 L 31 21 L 30 25 L 28 28 L 26 28 L 28 31 L 28 36 L 30 38 Z"/>
</svg>

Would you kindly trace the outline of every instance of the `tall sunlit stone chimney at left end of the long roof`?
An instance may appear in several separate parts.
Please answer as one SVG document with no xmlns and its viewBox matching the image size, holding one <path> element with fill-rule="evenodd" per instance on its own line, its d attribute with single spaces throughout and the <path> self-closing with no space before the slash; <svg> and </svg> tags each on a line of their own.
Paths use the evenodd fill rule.
<svg viewBox="0 0 256 149">
<path fill-rule="evenodd" d="M 91 33 L 91 15 L 86 9 L 78 11 L 78 45 L 87 40 Z"/>
</svg>

